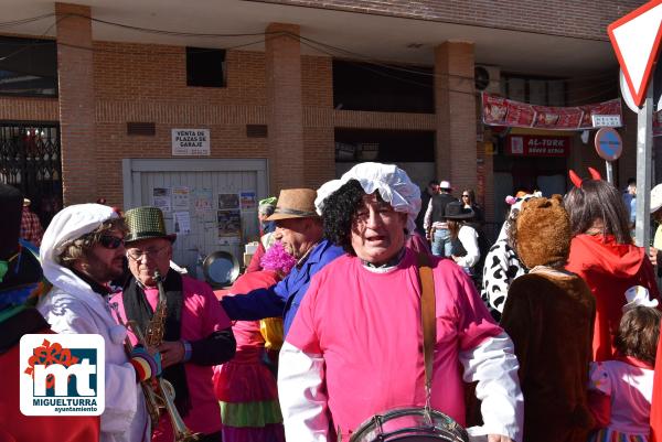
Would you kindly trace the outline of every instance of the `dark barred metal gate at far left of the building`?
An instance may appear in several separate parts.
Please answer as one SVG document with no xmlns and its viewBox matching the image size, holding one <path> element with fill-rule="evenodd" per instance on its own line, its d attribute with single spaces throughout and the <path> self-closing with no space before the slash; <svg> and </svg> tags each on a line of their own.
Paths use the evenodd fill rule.
<svg viewBox="0 0 662 442">
<path fill-rule="evenodd" d="M 60 125 L 0 121 L 0 182 L 21 190 L 44 228 L 62 208 Z"/>
</svg>

